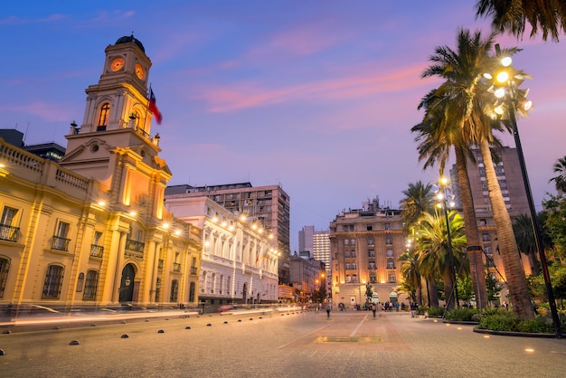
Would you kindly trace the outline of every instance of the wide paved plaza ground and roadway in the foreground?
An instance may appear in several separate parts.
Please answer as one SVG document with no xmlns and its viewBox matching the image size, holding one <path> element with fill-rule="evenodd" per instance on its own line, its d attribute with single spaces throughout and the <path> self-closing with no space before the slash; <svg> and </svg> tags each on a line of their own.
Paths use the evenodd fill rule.
<svg viewBox="0 0 566 378">
<path fill-rule="evenodd" d="M 472 326 L 365 311 L 14 331 L 0 335 L 0 349 L 2 377 L 558 377 L 566 358 L 563 339 L 483 335 Z"/>
</svg>

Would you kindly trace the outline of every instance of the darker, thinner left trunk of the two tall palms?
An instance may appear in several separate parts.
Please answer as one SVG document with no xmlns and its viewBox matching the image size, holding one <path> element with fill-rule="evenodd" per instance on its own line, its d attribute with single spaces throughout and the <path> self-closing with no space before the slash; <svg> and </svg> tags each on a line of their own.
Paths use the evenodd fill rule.
<svg viewBox="0 0 566 378">
<path fill-rule="evenodd" d="M 464 149 L 454 146 L 456 153 L 456 167 L 458 169 L 458 185 L 460 189 L 460 200 L 462 201 L 462 212 L 466 223 L 467 256 L 470 263 L 470 275 L 476 293 L 477 308 L 487 308 L 486 272 L 484 270 L 484 256 L 482 246 L 479 243 L 479 232 L 477 231 L 476 209 L 472 189 L 467 177 L 466 155 Z"/>
</svg>

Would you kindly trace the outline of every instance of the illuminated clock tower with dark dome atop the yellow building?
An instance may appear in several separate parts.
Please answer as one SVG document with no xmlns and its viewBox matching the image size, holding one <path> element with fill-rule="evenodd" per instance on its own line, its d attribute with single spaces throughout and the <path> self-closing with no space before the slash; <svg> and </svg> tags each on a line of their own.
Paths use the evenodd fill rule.
<svg viewBox="0 0 566 378">
<path fill-rule="evenodd" d="M 108 45 L 98 84 L 87 88 L 80 125 L 71 123 L 60 164 L 95 179 L 116 206 L 141 206 L 161 219 L 163 195 L 171 171 L 152 136 L 147 79 L 151 61 L 133 35 Z M 96 200 L 96 199 L 93 199 Z M 149 206 L 152 210 L 149 212 Z"/>
</svg>

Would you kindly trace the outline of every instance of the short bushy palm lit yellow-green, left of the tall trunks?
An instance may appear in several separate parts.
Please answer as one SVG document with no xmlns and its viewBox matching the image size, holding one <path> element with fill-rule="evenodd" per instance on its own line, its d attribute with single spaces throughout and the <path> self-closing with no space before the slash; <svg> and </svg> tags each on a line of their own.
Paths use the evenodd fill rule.
<svg viewBox="0 0 566 378">
<path fill-rule="evenodd" d="M 457 211 L 448 213 L 449 237 L 447 222 L 444 214 L 435 212 L 424 213 L 419 221 L 417 229 L 418 238 L 415 248 L 419 252 L 421 274 L 427 276 L 431 281 L 436 273 L 444 280 L 444 292 L 446 294 L 447 309 L 454 307 L 454 296 L 452 291 L 456 282 L 455 271 L 452 269 L 452 255 L 454 256 L 454 268 L 460 270 L 466 256 L 462 249 L 466 246 L 466 235 L 464 234 L 464 220 Z"/>
</svg>

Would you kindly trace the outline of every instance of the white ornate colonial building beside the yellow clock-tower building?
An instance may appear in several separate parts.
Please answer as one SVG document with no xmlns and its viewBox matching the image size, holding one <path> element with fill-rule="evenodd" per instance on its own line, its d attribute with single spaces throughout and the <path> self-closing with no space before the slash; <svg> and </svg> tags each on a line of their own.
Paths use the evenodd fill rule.
<svg viewBox="0 0 566 378">
<path fill-rule="evenodd" d="M 208 197 L 167 194 L 165 206 L 203 230 L 199 298 L 204 304 L 278 301 L 278 250 L 272 233 Z"/>
</svg>

